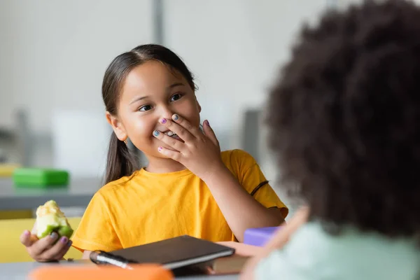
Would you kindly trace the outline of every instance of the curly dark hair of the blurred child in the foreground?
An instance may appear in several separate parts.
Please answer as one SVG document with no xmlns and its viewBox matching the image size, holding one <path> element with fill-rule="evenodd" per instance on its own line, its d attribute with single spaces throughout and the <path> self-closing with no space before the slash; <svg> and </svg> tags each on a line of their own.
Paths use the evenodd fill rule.
<svg viewBox="0 0 420 280">
<path fill-rule="evenodd" d="M 419 236 L 418 6 L 367 1 L 305 25 L 268 106 L 281 179 L 312 219 Z"/>
</svg>

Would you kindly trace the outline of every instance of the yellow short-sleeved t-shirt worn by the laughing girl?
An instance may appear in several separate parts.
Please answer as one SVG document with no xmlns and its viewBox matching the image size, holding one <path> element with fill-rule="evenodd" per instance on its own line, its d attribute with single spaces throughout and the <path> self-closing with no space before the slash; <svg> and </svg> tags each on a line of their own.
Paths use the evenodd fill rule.
<svg viewBox="0 0 420 280">
<path fill-rule="evenodd" d="M 221 157 L 255 200 L 278 207 L 286 218 L 288 209 L 251 155 L 233 150 Z M 190 170 L 158 174 L 140 169 L 130 180 L 108 183 L 92 197 L 72 241 L 80 250 L 113 251 L 180 235 L 235 240 L 209 188 Z"/>
</svg>

